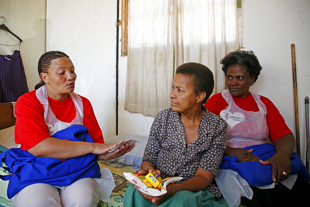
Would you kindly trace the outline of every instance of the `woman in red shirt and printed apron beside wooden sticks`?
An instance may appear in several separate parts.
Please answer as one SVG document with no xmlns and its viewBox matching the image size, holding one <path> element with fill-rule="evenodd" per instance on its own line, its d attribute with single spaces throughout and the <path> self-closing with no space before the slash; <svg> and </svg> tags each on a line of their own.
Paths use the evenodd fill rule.
<svg viewBox="0 0 310 207">
<path fill-rule="evenodd" d="M 269 99 L 249 91 L 262 69 L 257 57 L 253 51 L 237 50 L 226 55 L 221 64 L 228 89 L 213 95 L 205 106 L 209 112 L 219 115 L 228 124 L 224 155 L 236 156 L 237 162 L 260 161 L 263 165 L 271 164 L 272 180 L 275 182 L 260 188 L 249 186 L 245 180 L 240 181 L 243 178 L 236 171 L 230 170 L 228 173 L 229 170 L 222 170 L 225 175 L 223 173 L 221 176 L 219 173 L 215 180 L 224 197 L 227 195 L 226 201 L 230 206 L 237 206 L 242 196 L 241 202 L 246 206 L 287 206 L 299 201 L 303 203 L 307 199 L 305 195 L 309 193 L 309 183 L 296 174 L 290 176 L 290 157 L 295 148 L 294 135 Z M 276 153 L 266 161 L 252 154 L 253 149 L 243 149 L 267 143 L 268 137 L 275 144 Z"/>
</svg>

